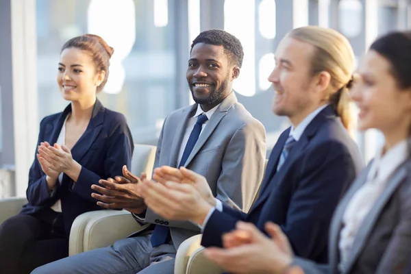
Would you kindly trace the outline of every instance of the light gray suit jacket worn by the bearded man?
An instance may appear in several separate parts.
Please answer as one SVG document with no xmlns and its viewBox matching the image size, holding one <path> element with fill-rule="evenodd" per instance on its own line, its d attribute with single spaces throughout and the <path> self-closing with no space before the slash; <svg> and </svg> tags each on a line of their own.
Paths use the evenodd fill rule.
<svg viewBox="0 0 411 274">
<path fill-rule="evenodd" d="M 186 125 L 196 110 L 197 104 L 190 105 L 166 117 L 154 167 L 178 166 Z M 264 126 L 238 103 L 232 92 L 212 114 L 184 166 L 206 177 L 217 199 L 247 212 L 262 182 L 265 155 Z M 176 249 L 186 238 L 200 233 L 193 223 L 165 220 L 150 209 L 145 221 L 169 226 Z"/>
</svg>

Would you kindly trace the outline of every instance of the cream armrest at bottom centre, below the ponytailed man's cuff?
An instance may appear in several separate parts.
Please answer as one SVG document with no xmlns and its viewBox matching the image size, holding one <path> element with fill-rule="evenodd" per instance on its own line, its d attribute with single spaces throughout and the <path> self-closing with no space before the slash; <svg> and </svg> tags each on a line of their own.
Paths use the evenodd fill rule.
<svg viewBox="0 0 411 274">
<path fill-rule="evenodd" d="M 203 255 L 201 234 L 188 238 L 177 250 L 175 274 L 221 274 L 225 271 Z"/>
</svg>

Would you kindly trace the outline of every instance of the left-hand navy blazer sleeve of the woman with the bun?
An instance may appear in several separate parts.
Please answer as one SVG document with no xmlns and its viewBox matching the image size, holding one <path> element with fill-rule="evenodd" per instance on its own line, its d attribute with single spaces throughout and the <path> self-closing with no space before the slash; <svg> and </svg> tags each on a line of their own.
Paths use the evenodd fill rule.
<svg viewBox="0 0 411 274">
<path fill-rule="evenodd" d="M 38 133 L 36 152 L 38 145 L 43 141 L 46 126 L 45 119 L 42 119 L 40 122 L 40 132 Z M 56 184 L 56 186 L 59 188 L 60 184 Z M 49 190 L 47 190 L 46 175 L 42 172 L 36 153 L 34 153 L 34 161 L 29 170 L 29 185 L 27 186 L 26 196 L 32 206 L 51 205 L 58 199 L 56 197 L 51 197 Z"/>
</svg>

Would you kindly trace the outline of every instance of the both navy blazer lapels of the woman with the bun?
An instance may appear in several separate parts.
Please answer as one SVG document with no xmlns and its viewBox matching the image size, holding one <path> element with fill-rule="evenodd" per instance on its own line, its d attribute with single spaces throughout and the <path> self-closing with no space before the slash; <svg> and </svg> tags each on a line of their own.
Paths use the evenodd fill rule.
<svg viewBox="0 0 411 274">
<path fill-rule="evenodd" d="M 47 124 L 45 129 L 45 140 L 49 142 L 50 145 L 53 145 L 60 135 L 62 130 L 62 126 L 66 116 L 71 112 L 71 103 L 66 106 L 63 112 L 58 114 L 57 118 L 50 123 Z M 73 155 L 73 159 L 77 162 L 81 161 L 84 154 L 90 149 L 92 143 L 95 141 L 99 132 L 101 130 L 102 124 L 104 122 L 104 112 L 105 108 L 100 103 L 98 99 L 96 99 L 96 103 L 92 109 L 90 122 L 86 128 L 84 134 L 77 140 L 74 147 L 71 149 L 71 154 Z"/>
</svg>

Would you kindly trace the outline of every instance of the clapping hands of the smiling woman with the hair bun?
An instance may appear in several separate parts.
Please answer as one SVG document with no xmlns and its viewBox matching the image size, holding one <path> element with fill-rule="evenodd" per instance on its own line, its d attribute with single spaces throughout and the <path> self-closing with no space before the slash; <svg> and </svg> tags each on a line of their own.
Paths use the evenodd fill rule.
<svg viewBox="0 0 411 274">
<path fill-rule="evenodd" d="M 74 182 L 77 182 L 82 166 L 73 159 L 71 151 L 65 145 L 60 146 L 49 142 L 40 142 L 36 157 L 42 171 L 46 174 L 47 188 L 52 190 L 60 173 L 66 173 Z"/>
</svg>

